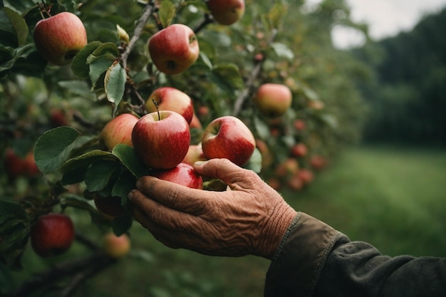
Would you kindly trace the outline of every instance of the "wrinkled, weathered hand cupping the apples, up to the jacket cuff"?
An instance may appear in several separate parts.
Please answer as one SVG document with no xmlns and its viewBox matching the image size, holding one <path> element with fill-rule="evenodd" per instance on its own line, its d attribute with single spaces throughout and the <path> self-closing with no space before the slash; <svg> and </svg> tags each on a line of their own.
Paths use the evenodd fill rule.
<svg viewBox="0 0 446 297">
<path fill-rule="evenodd" d="M 230 189 L 190 189 L 141 177 L 138 189 L 129 194 L 135 219 L 172 248 L 272 259 L 296 211 L 255 172 L 229 160 L 197 162 L 195 170 L 202 176 L 221 179 Z"/>
</svg>

